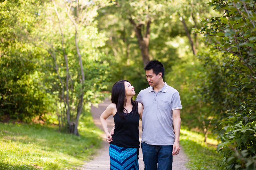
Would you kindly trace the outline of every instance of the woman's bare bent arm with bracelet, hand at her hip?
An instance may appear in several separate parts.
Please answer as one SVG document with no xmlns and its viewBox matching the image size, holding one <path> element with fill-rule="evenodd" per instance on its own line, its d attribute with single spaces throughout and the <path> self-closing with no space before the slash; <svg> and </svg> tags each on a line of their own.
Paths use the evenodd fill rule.
<svg viewBox="0 0 256 170">
<path fill-rule="evenodd" d="M 107 109 L 101 114 L 100 116 L 100 123 L 102 128 L 104 129 L 104 132 L 106 133 L 106 141 L 110 143 L 112 140 L 111 134 L 108 132 L 108 125 L 107 125 L 107 118 L 111 115 L 113 115 L 114 110 L 116 110 L 116 105 L 114 103 L 110 104 Z"/>
</svg>

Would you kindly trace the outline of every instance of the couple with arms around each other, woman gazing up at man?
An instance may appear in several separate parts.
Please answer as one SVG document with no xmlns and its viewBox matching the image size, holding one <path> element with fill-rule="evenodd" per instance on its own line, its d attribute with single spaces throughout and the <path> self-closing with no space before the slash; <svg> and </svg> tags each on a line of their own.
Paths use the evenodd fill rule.
<svg viewBox="0 0 256 170">
<path fill-rule="evenodd" d="M 163 81 L 161 62 L 152 60 L 144 70 L 150 87 L 142 90 L 133 101 L 135 90 L 130 82 L 116 82 L 112 88 L 112 104 L 100 117 L 110 143 L 110 170 L 139 170 L 139 119 L 142 120 L 145 170 L 171 170 L 172 156 L 179 154 L 182 109 L 179 93 Z M 115 127 L 109 133 L 106 119 L 111 115 Z"/>
</svg>

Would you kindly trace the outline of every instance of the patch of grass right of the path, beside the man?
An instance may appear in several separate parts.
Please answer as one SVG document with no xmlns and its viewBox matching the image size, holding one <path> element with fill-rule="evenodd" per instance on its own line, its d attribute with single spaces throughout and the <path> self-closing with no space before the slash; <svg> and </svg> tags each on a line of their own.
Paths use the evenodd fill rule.
<svg viewBox="0 0 256 170">
<path fill-rule="evenodd" d="M 180 144 L 189 162 L 186 164 L 190 170 L 219 170 L 221 156 L 217 153 L 216 145 L 218 141 L 208 138 L 204 143 L 204 135 L 199 132 L 181 128 Z M 209 144 L 210 143 L 210 144 Z"/>
</svg>

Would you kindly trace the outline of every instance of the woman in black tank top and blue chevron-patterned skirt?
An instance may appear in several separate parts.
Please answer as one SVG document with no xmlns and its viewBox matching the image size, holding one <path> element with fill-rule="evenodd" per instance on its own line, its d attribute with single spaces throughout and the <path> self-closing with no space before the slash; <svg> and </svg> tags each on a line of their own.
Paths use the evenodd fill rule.
<svg viewBox="0 0 256 170">
<path fill-rule="evenodd" d="M 134 87 L 127 80 L 120 80 L 112 87 L 111 102 L 100 116 L 100 122 L 110 142 L 110 170 L 139 170 L 139 119 L 143 106 L 132 100 Z M 115 133 L 111 136 L 106 119 L 114 116 Z"/>
</svg>

